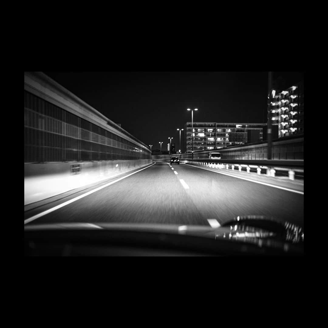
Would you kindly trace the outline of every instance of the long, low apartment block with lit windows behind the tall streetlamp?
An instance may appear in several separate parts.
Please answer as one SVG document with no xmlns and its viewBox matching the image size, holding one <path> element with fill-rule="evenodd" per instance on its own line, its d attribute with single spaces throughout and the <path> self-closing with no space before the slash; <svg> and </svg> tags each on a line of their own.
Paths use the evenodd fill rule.
<svg viewBox="0 0 328 328">
<path fill-rule="evenodd" d="M 194 152 L 243 145 L 250 142 L 248 136 L 252 139 L 252 142 L 262 141 L 264 126 L 265 123 L 194 122 Z M 192 122 L 185 124 L 184 136 L 184 151 L 189 153 L 192 151 Z"/>
</svg>

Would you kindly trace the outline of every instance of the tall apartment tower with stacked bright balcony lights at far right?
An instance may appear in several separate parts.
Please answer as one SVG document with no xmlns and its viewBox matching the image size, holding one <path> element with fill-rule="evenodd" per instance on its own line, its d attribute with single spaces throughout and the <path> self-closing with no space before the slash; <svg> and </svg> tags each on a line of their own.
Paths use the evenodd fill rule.
<svg viewBox="0 0 328 328">
<path fill-rule="evenodd" d="M 278 137 L 304 133 L 304 83 L 268 95 L 268 119 L 278 126 Z"/>
</svg>

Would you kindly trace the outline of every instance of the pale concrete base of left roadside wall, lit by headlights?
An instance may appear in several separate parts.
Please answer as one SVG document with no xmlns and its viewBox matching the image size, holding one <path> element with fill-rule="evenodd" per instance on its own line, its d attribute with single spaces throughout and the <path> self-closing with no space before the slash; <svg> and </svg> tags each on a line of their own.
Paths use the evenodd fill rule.
<svg viewBox="0 0 328 328">
<path fill-rule="evenodd" d="M 24 164 L 24 205 L 142 168 L 150 159 Z M 79 165 L 72 170 L 73 165 Z M 75 170 L 75 173 L 72 172 Z"/>
</svg>

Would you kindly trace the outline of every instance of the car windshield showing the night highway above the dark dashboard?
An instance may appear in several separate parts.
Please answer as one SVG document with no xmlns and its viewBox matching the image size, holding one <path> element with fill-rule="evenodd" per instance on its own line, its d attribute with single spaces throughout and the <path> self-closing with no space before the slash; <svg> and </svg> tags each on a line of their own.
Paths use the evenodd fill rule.
<svg viewBox="0 0 328 328">
<path fill-rule="evenodd" d="M 303 227 L 302 73 L 24 76 L 25 227 L 181 232 L 250 215 Z"/>
</svg>

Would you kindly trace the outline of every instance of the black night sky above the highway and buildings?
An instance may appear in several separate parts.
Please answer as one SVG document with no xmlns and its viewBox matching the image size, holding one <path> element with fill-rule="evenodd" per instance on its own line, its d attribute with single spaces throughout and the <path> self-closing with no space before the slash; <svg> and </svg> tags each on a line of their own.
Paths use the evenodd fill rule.
<svg viewBox="0 0 328 328">
<path fill-rule="evenodd" d="M 265 123 L 268 72 L 44 72 L 145 144 L 178 144 L 178 128 L 195 122 Z M 275 72 L 284 87 L 301 72 Z M 182 134 L 182 133 L 181 133 Z M 181 138 L 182 141 L 182 138 Z M 164 146 L 165 145 L 165 146 Z"/>
</svg>

